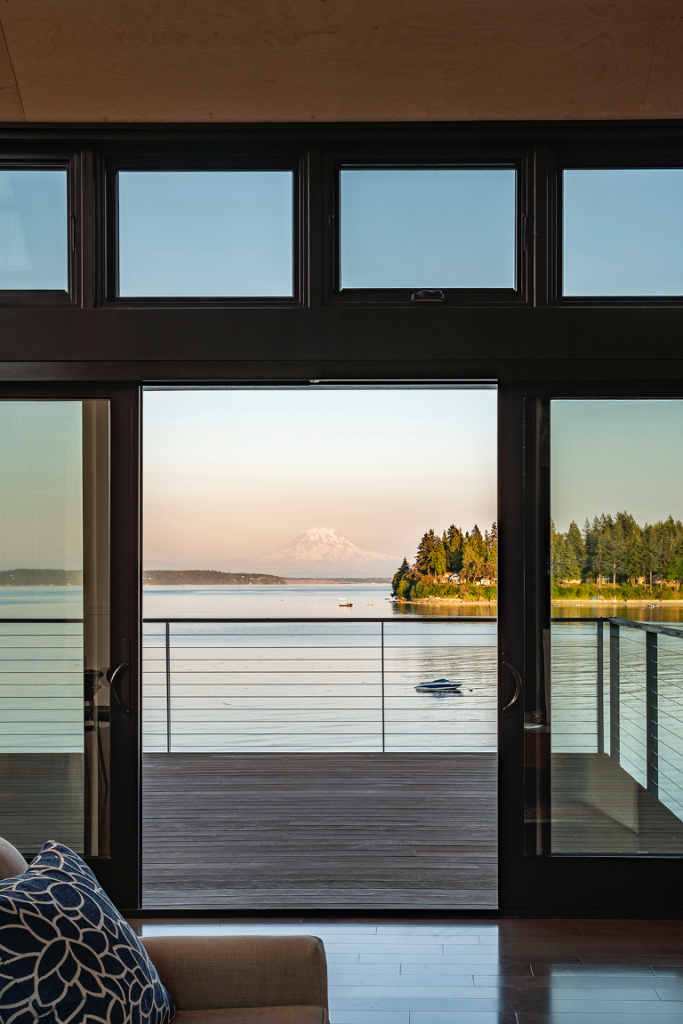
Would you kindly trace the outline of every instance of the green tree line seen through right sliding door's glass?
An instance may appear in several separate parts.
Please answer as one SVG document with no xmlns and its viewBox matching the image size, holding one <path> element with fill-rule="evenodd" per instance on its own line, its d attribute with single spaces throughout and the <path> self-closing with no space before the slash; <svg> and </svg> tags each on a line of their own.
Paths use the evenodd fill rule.
<svg viewBox="0 0 683 1024">
<path fill-rule="evenodd" d="M 581 582 L 612 587 L 648 584 L 657 577 L 680 587 L 683 581 L 683 524 L 668 519 L 639 526 L 628 512 L 615 516 L 586 519 L 584 528 L 575 522 L 566 534 L 551 523 L 553 583 L 565 586 Z"/>
</svg>

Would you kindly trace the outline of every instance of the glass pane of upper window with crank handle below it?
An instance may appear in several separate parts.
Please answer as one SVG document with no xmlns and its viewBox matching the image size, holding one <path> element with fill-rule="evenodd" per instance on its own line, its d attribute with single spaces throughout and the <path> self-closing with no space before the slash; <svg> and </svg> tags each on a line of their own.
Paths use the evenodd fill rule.
<svg viewBox="0 0 683 1024">
<path fill-rule="evenodd" d="M 343 170 L 341 288 L 514 288 L 515 171 Z"/>
</svg>

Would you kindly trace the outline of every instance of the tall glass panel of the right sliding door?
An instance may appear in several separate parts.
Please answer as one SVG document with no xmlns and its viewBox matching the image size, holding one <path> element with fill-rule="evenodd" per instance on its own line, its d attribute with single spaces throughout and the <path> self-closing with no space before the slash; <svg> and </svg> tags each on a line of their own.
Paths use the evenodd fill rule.
<svg viewBox="0 0 683 1024">
<path fill-rule="evenodd" d="M 551 849 L 681 856 L 683 400 L 551 428 Z"/>
</svg>

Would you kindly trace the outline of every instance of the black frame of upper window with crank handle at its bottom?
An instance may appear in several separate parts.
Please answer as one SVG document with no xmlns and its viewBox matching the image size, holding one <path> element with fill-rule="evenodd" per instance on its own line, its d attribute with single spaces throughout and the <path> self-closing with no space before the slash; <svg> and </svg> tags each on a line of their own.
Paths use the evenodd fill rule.
<svg viewBox="0 0 683 1024">
<path fill-rule="evenodd" d="M 518 142 L 507 145 L 479 143 L 459 145 L 385 144 L 350 145 L 330 148 L 323 157 L 323 221 L 327 223 L 327 245 L 323 247 L 322 270 L 325 304 L 351 306 L 397 306 L 422 304 L 443 306 L 516 306 L 530 300 L 530 162 L 528 153 Z M 515 288 L 442 288 L 443 300 L 437 303 L 413 301 L 412 296 L 424 283 L 411 288 L 340 288 L 341 271 L 341 171 L 342 170 L 474 170 L 476 168 L 514 170 L 515 188 Z M 435 286 L 436 287 L 436 286 Z"/>
</svg>

